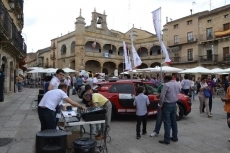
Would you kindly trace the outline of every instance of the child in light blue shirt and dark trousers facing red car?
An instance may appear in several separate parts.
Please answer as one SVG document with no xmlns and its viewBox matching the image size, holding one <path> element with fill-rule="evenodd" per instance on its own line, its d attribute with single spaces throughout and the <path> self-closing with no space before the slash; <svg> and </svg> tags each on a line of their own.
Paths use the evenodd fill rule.
<svg viewBox="0 0 230 153">
<path fill-rule="evenodd" d="M 142 122 L 142 135 L 147 133 L 146 131 L 146 124 L 147 124 L 147 106 L 149 105 L 149 98 L 148 96 L 144 95 L 144 87 L 139 86 L 137 88 L 137 96 L 134 99 L 133 105 L 136 106 L 136 115 L 137 115 L 137 125 L 136 125 L 136 133 L 137 139 L 141 138 L 140 135 L 140 126 Z"/>
</svg>

